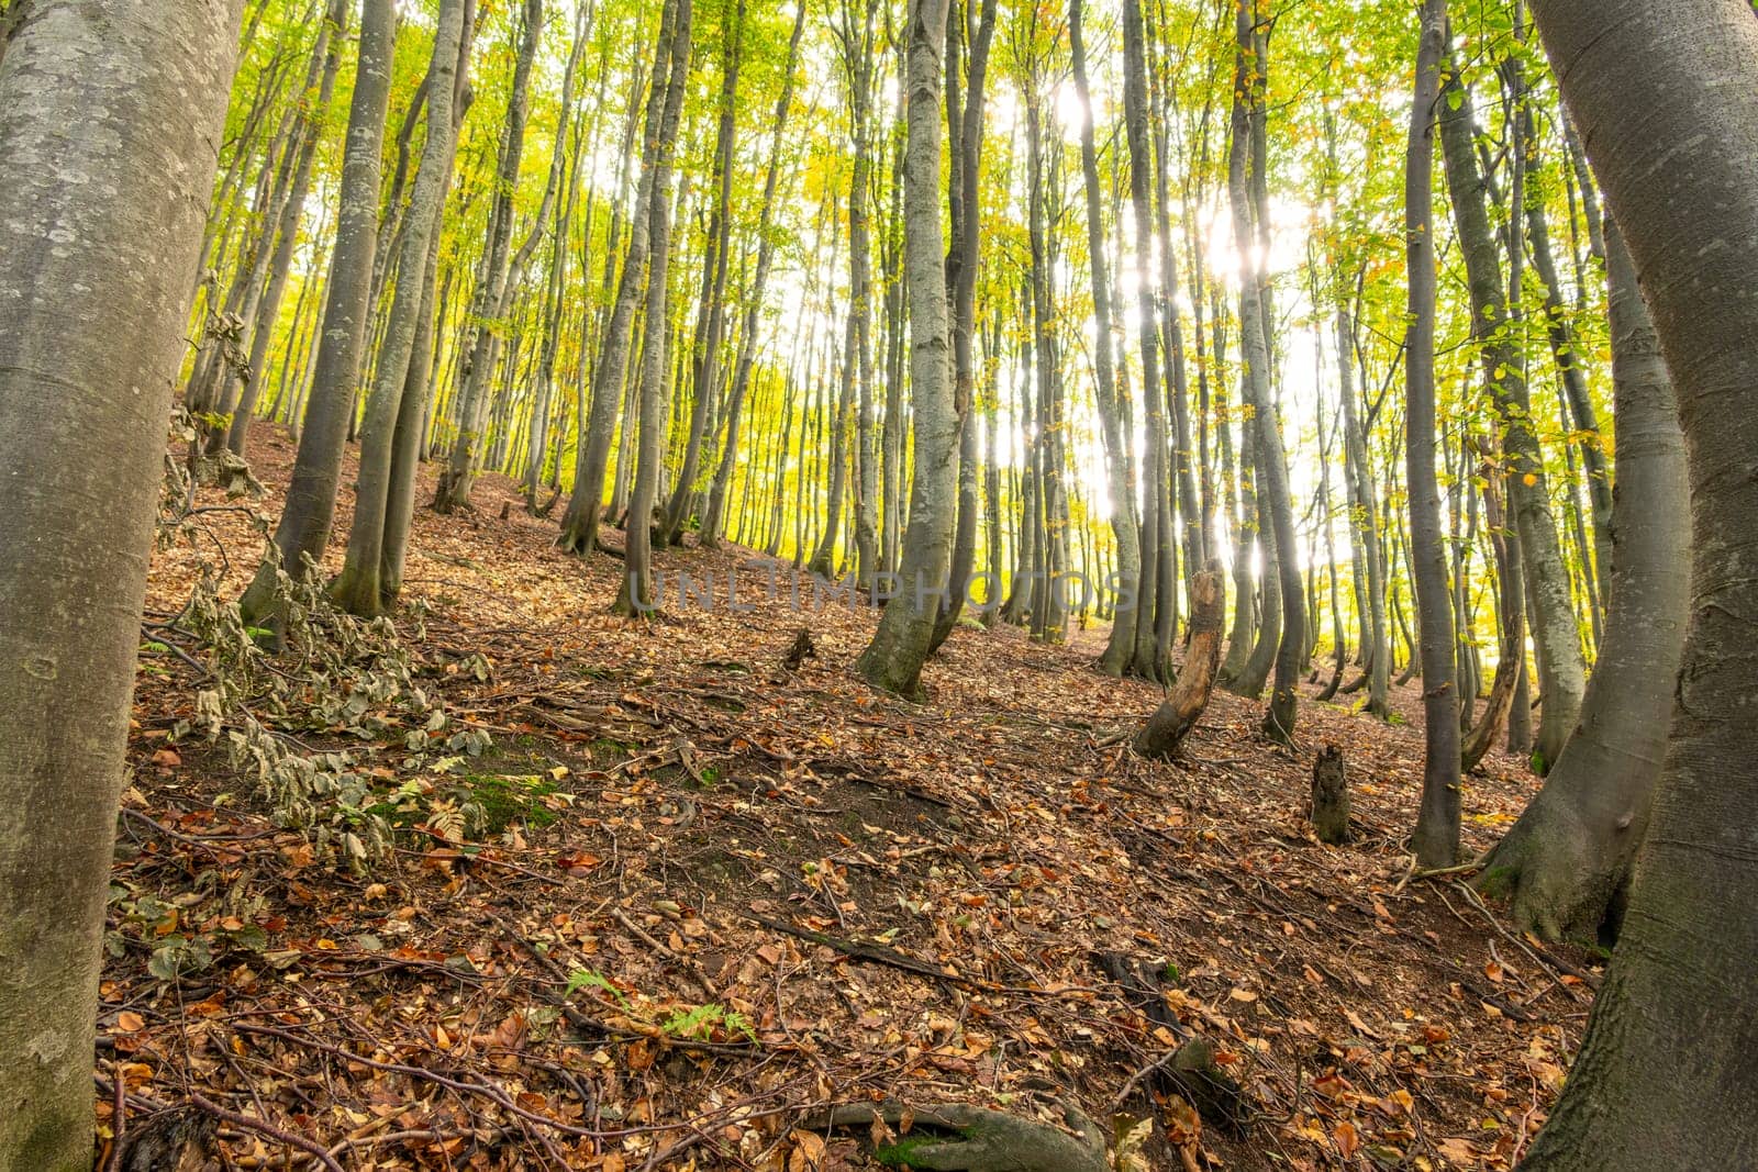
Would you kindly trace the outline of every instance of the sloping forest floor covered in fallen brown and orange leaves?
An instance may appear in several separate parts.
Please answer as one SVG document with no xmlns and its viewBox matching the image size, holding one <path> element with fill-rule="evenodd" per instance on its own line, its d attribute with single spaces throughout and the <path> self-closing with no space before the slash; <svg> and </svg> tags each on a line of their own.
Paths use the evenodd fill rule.
<svg viewBox="0 0 1758 1172">
<path fill-rule="evenodd" d="M 278 515 L 292 453 L 257 425 L 267 496 L 244 504 Z M 223 594 L 248 580 L 244 511 L 195 520 L 155 559 L 149 611 L 181 608 L 220 550 Z M 1217 692 L 1183 757 L 1148 763 L 1123 738 L 1159 689 L 1097 675 L 1099 629 L 960 629 L 912 705 L 851 671 L 872 610 L 608 615 L 621 562 L 556 550 L 501 478 L 415 531 L 427 617 L 401 629 L 448 727 L 492 745 L 410 773 L 394 717 L 380 740 L 309 742 L 350 743 L 387 801 L 404 782 L 475 799 L 492 831 L 448 842 L 417 817 L 359 873 L 315 854 L 223 742 L 167 743 L 200 673 L 149 647 L 100 1133 L 125 1103 L 135 1135 L 218 1126 L 209 1167 L 805 1172 L 870 1167 L 867 1128 L 812 1126 L 826 1105 L 1050 1118 L 1062 1096 L 1122 1133 L 1183 1119 L 1183 1151 L 1157 1133 L 1129 1167 L 1501 1168 L 1544 1119 L 1598 961 L 1510 935 L 1450 877 L 1403 882 L 1417 692 L 1387 726 L 1310 687 L 1292 756 L 1257 736 L 1259 705 Z M 661 566 L 700 580 L 749 557 L 691 545 Z M 802 627 L 817 655 L 788 671 Z M 1327 742 L 1348 759 L 1345 847 L 1304 822 Z M 1493 756 L 1464 787 L 1466 849 L 1535 787 Z M 169 979 L 149 968 L 165 940 Z M 1176 1026 L 1101 952 L 1144 961 Z M 1188 1112 L 1164 1114 L 1178 1030 L 1215 1044 L 1243 1126 L 1192 1140 Z"/>
</svg>

